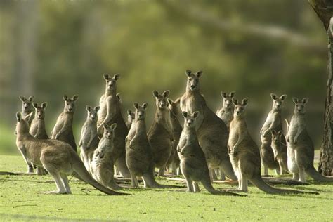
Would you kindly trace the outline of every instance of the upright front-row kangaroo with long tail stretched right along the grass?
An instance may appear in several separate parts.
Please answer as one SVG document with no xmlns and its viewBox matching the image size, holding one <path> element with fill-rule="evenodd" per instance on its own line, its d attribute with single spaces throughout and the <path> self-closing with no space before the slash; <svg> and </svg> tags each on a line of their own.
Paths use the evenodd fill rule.
<svg viewBox="0 0 333 222">
<path fill-rule="evenodd" d="M 238 190 L 247 192 L 247 180 L 249 180 L 263 192 L 272 194 L 318 194 L 318 192 L 303 192 L 300 190 L 274 188 L 263 181 L 260 174 L 261 158 L 259 148 L 250 136 L 249 131 L 247 130 L 247 123 L 245 121 L 245 107 L 247 106 L 248 99 L 245 98 L 241 103 L 234 99 L 233 103 L 235 104 L 235 111 L 233 121 L 230 123 L 228 150 L 230 153 L 231 163 L 233 164 L 235 174 L 238 178 Z"/>
</svg>

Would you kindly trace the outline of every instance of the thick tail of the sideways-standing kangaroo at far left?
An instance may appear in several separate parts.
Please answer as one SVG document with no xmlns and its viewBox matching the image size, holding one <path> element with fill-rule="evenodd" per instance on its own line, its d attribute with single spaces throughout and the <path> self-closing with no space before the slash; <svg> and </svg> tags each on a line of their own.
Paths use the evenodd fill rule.
<svg viewBox="0 0 333 222">
<path fill-rule="evenodd" d="M 123 192 L 115 192 L 113 190 L 110 190 L 109 188 L 105 188 L 105 186 L 101 185 L 97 181 L 95 181 L 92 176 L 86 171 L 86 167 L 84 166 L 84 163 L 81 161 L 78 155 L 72 155 L 74 161 L 73 161 L 73 176 L 76 176 L 81 181 L 84 181 L 86 183 L 89 183 L 97 190 L 100 190 L 100 192 L 104 192 L 107 195 L 127 195 Z"/>
</svg>

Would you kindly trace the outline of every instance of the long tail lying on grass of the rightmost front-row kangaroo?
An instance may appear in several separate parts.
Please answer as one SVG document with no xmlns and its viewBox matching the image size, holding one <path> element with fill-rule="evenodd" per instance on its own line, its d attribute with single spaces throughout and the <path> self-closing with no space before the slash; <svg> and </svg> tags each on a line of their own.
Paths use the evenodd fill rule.
<svg viewBox="0 0 333 222">
<path fill-rule="evenodd" d="M 280 188 L 274 188 L 270 185 L 268 185 L 267 183 L 265 183 L 265 181 L 263 181 L 263 178 L 261 178 L 260 175 L 258 176 L 254 176 L 253 178 L 251 178 L 249 181 L 251 181 L 251 183 L 253 185 L 255 185 L 257 188 L 259 188 L 260 190 L 262 190 L 263 192 L 268 192 L 271 194 L 289 194 L 289 193 L 301 193 L 301 194 L 316 194 L 318 195 L 318 192 L 305 192 L 305 191 L 301 191 L 301 190 L 287 190 L 287 189 L 280 189 Z"/>
</svg>

